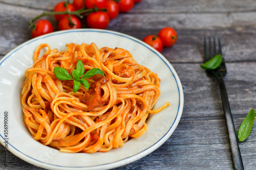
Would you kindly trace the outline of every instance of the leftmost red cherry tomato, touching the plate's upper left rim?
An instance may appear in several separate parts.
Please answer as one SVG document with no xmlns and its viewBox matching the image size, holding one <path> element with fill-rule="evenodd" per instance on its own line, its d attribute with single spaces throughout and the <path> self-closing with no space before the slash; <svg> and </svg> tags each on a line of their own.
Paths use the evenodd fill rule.
<svg viewBox="0 0 256 170">
<path fill-rule="evenodd" d="M 38 37 L 40 35 L 48 34 L 53 32 L 53 27 L 51 22 L 45 19 L 39 19 L 35 22 L 35 30 L 32 30 L 32 37 Z"/>
</svg>

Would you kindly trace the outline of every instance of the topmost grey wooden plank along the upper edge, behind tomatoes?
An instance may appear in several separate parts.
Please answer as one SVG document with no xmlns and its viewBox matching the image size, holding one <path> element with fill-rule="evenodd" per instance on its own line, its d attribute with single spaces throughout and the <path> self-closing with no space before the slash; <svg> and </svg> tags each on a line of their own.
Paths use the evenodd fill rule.
<svg viewBox="0 0 256 170">
<path fill-rule="evenodd" d="M 54 6 L 62 0 L 57 1 L 40 1 L 40 0 L 1 0 L 0 3 L 10 4 L 19 8 L 34 8 L 53 10 Z M 71 1 L 72 2 L 72 1 Z M 245 0 L 243 3 L 238 0 L 234 1 L 210 1 L 210 0 L 189 0 L 186 3 L 161 0 L 144 0 L 135 4 L 131 13 L 192 13 L 192 12 L 238 12 L 238 11 L 253 11 L 256 9 L 256 4 L 253 0 Z"/>
</svg>

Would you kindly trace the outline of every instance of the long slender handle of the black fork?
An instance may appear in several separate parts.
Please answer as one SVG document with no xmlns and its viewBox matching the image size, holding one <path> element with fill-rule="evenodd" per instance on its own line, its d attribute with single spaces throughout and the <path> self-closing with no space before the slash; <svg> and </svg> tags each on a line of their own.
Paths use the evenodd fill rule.
<svg viewBox="0 0 256 170">
<path fill-rule="evenodd" d="M 242 157 L 241 157 L 241 153 L 238 145 L 236 130 L 234 129 L 234 123 L 233 123 L 233 118 L 230 111 L 225 83 L 223 79 L 219 79 L 218 83 L 219 83 L 220 92 L 221 92 L 222 106 L 223 106 L 223 111 L 224 111 L 225 120 L 226 120 L 227 133 L 228 133 L 228 139 L 229 139 L 234 169 L 241 170 L 241 169 L 244 169 L 244 165 L 243 165 L 243 161 L 242 161 Z"/>
</svg>

